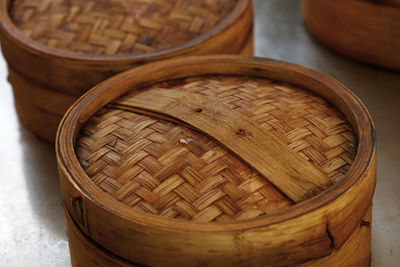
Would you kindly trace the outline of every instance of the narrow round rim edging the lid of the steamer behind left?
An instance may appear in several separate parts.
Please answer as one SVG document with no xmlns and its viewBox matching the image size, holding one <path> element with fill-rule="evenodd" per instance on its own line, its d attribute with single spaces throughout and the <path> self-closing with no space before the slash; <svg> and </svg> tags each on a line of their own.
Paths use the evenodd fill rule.
<svg viewBox="0 0 400 267">
<path fill-rule="evenodd" d="M 249 6 L 252 6 L 252 0 L 238 0 L 235 8 L 211 30 L 206 31 L 186 42 L 145 54 L 104 56 L 95 54 L 79 54 L 70 50 L 51 48 L 34 41 L 33 39 L 25 36 L 10 18 L 9 6 L 14 0 L 0 1 L 0 32 L 1 30 L 6 32 L 11 37 L 12 41 L 16 42 L 30 53 L 46 59 L 56 57 L 63 60 L 69 60 L 71 62 L 85 61 L 85 63 L 89 64 L 109 64 L 114 63 L 115 61 L 118 61 L 119 63 L 139 63 L 166 59 L 174 53 L 174 56 L 184 55 L 185 53 L 194 50 L 197 46 L 200 46 L 210 38 L 229 28 L 234 22 L 243 16 Z"/>
</svg>

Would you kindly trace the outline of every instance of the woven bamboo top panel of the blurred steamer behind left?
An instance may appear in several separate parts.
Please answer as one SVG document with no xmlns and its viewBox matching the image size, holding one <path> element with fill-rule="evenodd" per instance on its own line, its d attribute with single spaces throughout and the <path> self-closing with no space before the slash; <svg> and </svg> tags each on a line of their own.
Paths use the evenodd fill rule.
<svg viewBox="0 0 400 267">
<path fill-rule="evenodd" d="M 81 57 L 82 54 L 110 57 L 199 44 L 213 32 L 226 29 L 249 3 L 248 0 L 14 0 L 8 7 L 17 28 L 47 48 L 62 49 L 64 55 L 72 51 L 71 56 L 78 53 Z"/>
</svg>

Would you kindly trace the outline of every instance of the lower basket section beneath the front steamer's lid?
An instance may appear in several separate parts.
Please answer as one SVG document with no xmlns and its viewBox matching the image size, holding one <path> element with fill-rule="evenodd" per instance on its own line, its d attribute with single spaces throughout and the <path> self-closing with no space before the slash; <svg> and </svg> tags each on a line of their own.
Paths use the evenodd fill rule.
<svg viewBox="0 0 400 267">
<path fill-rule="evenodd" d="M 71 253 L 71 262 L 74 267 L 137 267 L 110 252 L 101 248 L 88 239 L 73 222 L 68 211 L 65 211 L 67 222 L 67 235 Z M 371 215 L 372 206 L 368 209 L 354 233 L 343 246 L 332 252 L 331 255 L 305 262 L 293 267 L 340 266 L 340 267 L 367 267 L 370 266 L 371 257 Z"/>
</svg>

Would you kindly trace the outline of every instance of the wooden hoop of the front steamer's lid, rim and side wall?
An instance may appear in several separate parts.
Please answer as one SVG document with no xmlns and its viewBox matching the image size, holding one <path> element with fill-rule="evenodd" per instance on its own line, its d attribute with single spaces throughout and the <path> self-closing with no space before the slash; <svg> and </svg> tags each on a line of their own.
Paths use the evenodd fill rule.
<svg viewBox="0 0 400 267">
<path fill-rule="evenodd" d="M 168 80 L 204 75 L 272 79 L 306 88 L 329 100 L 352 125 L 358 140 L 354 161 L 344 177 L 327 190 L 296 205 L 255 218 L 225 222 L 170 219 L 138 211 L 116 201 L 107 192 L 107 188 L 112 187 L 103 190 L 92 181 L 75 150 L 80 130 L 91 118 L 102 126 L 102 120 L 98 118 L 107 114 L 102 108 L 110 108 L 107 105 L 121 96 L 137 94 L 139 91 L 135 89 L 164 82 L 168 85 Z M 167 89 L 171 86 L 179 86 L 179 83 L 172 82 Z M 118 112 L 113 112 L 109 118 L 115 119 L 113 116 Z M 121 125 L 124 123 L 121 121 Z M 92 129 L 94 138 L 96 134 L 106 135 L 105 131 Z M 145 131 L 138 129 L 138 133 Z M 288 63 L 209 56 L 142 66 L 100 84 L 69 110 L 61 123 L 56 151 L 65 207 L 87 237 L 118 257 L 155 266 L 287 266 L 331 255 L 358 229 L 371 204 L 375 187 L 374 140 L 374 126 L 365 107 L 335 80 Z M 109 140 L 103 146 L 113 149 L 114 144 Z M 116 160 L 112 154 L 103 159 Z"/>
</svg>

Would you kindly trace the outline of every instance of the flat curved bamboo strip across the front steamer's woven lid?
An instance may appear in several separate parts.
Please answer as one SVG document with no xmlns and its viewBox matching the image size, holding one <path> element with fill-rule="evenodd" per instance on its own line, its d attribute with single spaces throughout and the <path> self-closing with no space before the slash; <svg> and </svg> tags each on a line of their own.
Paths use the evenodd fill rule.
<svg viewBox="0 0 400 267">
<path fill-rule="evenodd" d="M 307 195 L 313 195 L 331 183 L 326 174 L 294 153 L 280 139 L 211 98 L 152 89 L 119 104 L 172 115 L 212 136 L 270 179 L 294 202 L 306 199 Z"/>
</svg>

